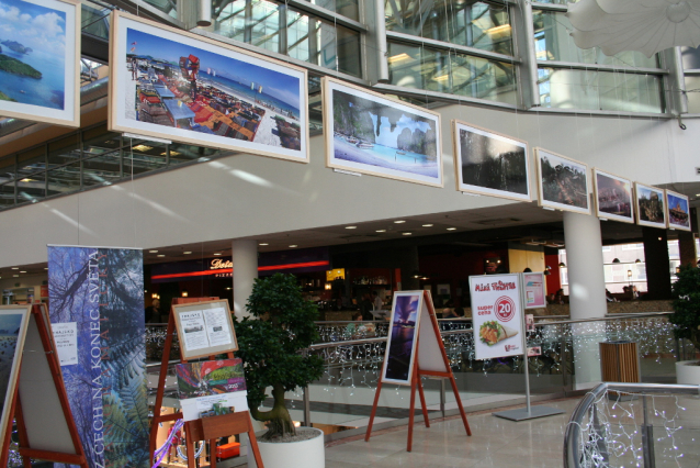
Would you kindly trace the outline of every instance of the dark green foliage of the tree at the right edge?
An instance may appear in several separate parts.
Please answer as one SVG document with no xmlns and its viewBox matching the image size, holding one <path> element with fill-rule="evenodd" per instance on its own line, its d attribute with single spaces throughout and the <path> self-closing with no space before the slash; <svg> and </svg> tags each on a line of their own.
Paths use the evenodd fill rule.
<svg viewBox="0 0 700 468">
<path fill-rule="evenodd" d="M 673 297 L 675 313 L 668 321 L 676 325 L 676 337 L 690 339 L 700 350 L 700 268 L 680 267 Z"/>
</svg>

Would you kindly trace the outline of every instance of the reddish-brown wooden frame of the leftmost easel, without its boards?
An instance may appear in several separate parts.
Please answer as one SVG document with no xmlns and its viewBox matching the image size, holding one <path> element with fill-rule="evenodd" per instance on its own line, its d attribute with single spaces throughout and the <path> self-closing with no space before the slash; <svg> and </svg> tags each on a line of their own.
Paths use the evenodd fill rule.
<svg viewBox="0 0 700 468">
<path fill-rule="evenodd" d="M 60 363 L 58 361 L 58 354 L 56 352 L 56 347 L 54 345 L 54 338 L 49 335 L 50 325 L 46 323 L 47 316 L 43 312 L 44 304 L 34 304 L 32 307 L 32 316 L 36 321 L 36 327 L 38 330 L 38 335 L 42 341 L 42 346 L 44 348 L 44 354 L 46 356 L 46 360 L 48 361 L 48 368 L 50 369 L 52 379 L 54 385 L 56 386 L 56 392 L 58 393 L 58 400 L 60 402 L 60 408 L 66 419 L 66 424 L 68 426 L 68 433 L 70 435 L 70 439 L 72 442 L 74 452 L 70 453 L 60 453 L 53 450 L 39 450 L 30 447 L 29 435 L 26 432 L 26 426 L 24 424 L 24 416 L 22 413 L 22 403 L 20 401 L 20 385 L 15 387 L 14 395 L 12 397 L 12 405 L 10 409 L 10 421 L 12 421 L 12 416 L 14 416 L 18 426 L 18 433 L 20 436 L 20 455 L 22 456 L 22 461 L 24 464 L 24 468 L 31 468 L 32 464 L 30 458 L 42 459 L 47 461 L 55 461 L 59 464 L 68 464 L 68 465 L 77 465 L 81 468 L 88 468 L 88 460 L 86 458 L 84 452 L 82 450 L 82 445 L 80 444 L 80 437 L 78 436 L 78 428 L 76 427 L 76 422 L 72 419 L 72 413 L 70 412 L 70 405 L 68 403 L 68 393 L 66 393 L 66 387 L 64 387 L 64 379 L 60 372 Z M 31 369 L 27 369 L 31 371 Z M 20 370 L 20 374 L 22 370 Z M 10 454 L 10 439 L 12 437 L 12 424 L 8 424 L 8 430 L 4 434 L 2 434 L 2 453 L 0 454 L 0 467 L 8 466 L 8 458 Z"/>
</svg>

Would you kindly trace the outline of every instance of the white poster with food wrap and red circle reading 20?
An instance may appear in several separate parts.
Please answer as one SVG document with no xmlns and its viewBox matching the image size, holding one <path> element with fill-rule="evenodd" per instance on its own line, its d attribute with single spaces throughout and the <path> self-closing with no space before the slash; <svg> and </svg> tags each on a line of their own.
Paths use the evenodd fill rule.
<svg viewBox="0 0 700 468">
<path fill-rule="evenodd" d="M 476 359 L 524 353 L 519 275 L 471 276 Z"/>
</svg>

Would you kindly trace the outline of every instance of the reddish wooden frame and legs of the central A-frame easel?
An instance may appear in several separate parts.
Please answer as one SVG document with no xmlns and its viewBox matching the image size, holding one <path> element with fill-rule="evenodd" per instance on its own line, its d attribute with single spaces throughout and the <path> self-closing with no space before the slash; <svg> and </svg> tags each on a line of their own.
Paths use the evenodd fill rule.
<svg viewBox="0 0 700 468">
<path fill-rule="evenodd" d="M 466 421 L 466 414 L 464 413 L 464 408 L 462 406 L 462 399 L 460 398 L 460 392 L 456 388 L 456 381 L 454 380 L 454 374 L 452 374 L 452 368 L 450 367 L 450 360 L 448 359 L 448 354 L 444 350 L 444 344 L 442 343 L 442 337 L 440 336 L 440 326 L 438 325 L 438 319 L 436 316 L 434 308 L 432 307 L 432 298 L 430 296 L 430 291 L 422 291 L 424 294 L 424 311 L 420 313 L 425 316 L 420 320 L 420 327 L 418 330 L 418 336 L 416 337 L 416 353 L 414 357 L 414 372 L 410 381 L 410 413 L 408 414 L 408 443 L 406 446 L 406 452 L 410 452 L 414 443 L 414 413 L 416 410 L 416 389 L 418 390 L 418 394 L 420 395 L 420 406 L 422 410 L 422 417 L 426 424 L 426 427 L 430 427 L 430 422 L 428 421 L 428 409 L 426 405 L 426 397 L 422 390 L 422 381 L 421 377 L 441 377 L 445 379 L 450 379 L 450 383 L 452 385 L 452 391 L 454 392 L 454 400 L 456 401 L 458 408 L 460 409 L 460 414 L 462 415 L 462 422 L 464 423 L 464 428 L 466 430 L 466 435 L 472 435 L 472 430 L 470 428 L 470 423 Z M 427 311 L 427 314 L 426 314 Z M 432 327 L 424 328 L 425 320 L 429 320 Z M 422 332 L 426 330 L 426 332 Z M 392 327 L 389 325 L 389 334 L 392 333 Z M 427 369 L 421 368 L 419 363 L 420 344 L 421 338 L 424 342 L 424 347 L 429 347 L 429 353 L 436 354 L 439 353 L 442 358 L 442 366 L 439 369 Z M 388 343 L 387 343 L 388 346 Z M 428 350 L 428 349 L 425 349 Z M 368 425 L 368 431 L 364 436 L 364 442 L 370 441 L 370 436 L 372 434 L 372 424 L 374 423 L 374 416 L 376 415 L 376 408 L 380 402 L 380 393 L 382 391 L 382 378 L 380 376 L 380 381 L 376 386 L 376 393 L 374 395 L 374 404 L 372 404 L 372 413 L 370 414 L 370 424 Z"/>
</svg>

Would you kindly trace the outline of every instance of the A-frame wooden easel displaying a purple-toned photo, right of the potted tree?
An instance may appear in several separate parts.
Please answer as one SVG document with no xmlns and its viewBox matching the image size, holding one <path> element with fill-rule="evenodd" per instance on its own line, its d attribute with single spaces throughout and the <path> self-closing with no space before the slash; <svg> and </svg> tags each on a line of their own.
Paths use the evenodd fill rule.
<svg viewBox="0 0 700 468">
<path fill-rule="evenodd" d="M 410 354 L 410 361 L 408 364 L 408 377 L 404 379 L 394 379 L 387 377 L 387 366 L 389 359 L 389 352 L 392 345 L 393 337 L 393 328 L 398 324 L 398 321 L 395 322 L 396 310 L 397 310 L 397 301 L 398 298 L 402 297 L 414 297 L 420 298 L 418 302 L 419 311 L 417 313 L 417 320 L 415 323 L 415 343 L 414 350 Z M 424 326 L 424 322 L 429 321 L 431 326 Z M 400 326 L 400 325 L 398 325 Z M 456 381 L 454 380 L 454 374 L 452 372 L 452 368 L 450 367 L 450 360 L 448 359 L 448 354 L 444 350 L 444 345 L 442 344 L 442 337 L 440 336 L 440 326 L 438 325 L 438 319 L 436 316 L 436 311 L 432 305 L 432 298 L 430 296 L 430 291 L 399 291 L 394 294 L 394 304 L 392 307 L 392 317 L 389 321 L 389 332 L 386 341 L 386 355 L 384 358 L 384 366 L 382 368 L 382 375 L 380 377 L 380 381 L 376 386 L 376 393 L 374 395 L 374 403 L 372 404 L 372 413 L 370 414 L 370 424 L 368 425 L 366 434 L 364 436 L 364 441 L 369 442 L 372 433 L 372 424 L 374 423 L 374 416 L 376 415 L 376 409 L 380 402 L 380 393 L 382 392 L 382 385 L 386 383 L 397 383 L 404 386 L 410 386 L 410 410 L 408 415 L 408 443 L 406 446 L 406 450 L 410 452 L 414 442 L 414 415 L 416 410 L 416 390 L 418 390 L 418 394 L 420 397 L 420 406 L 422 410 L 424 422 L 426 427 L 430 427 L 430 421 L 428 420 L 428 409 L 426 405 L 426 397 L 422 389 L 421 377 L 438 377 L 443 379 L 449 379 L 452 385 L 452 391 L 454 392 L 454 400 L 456 401 L 458 408 L 460 410 L 460 415 L 462 416 L 462 422 L 464 423 L 464 428 L 466 430 L 466 435 L 472 435 L 472 430 L 470 428 L 470 424 L 466 421 L 466 413 L 464 412 L 464 408 L 462 406 L 462 400 L 460 398 L 460 392 L 456 387 Z"/>
</svg>

